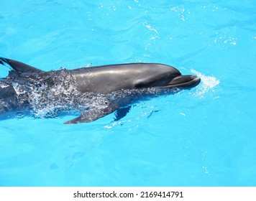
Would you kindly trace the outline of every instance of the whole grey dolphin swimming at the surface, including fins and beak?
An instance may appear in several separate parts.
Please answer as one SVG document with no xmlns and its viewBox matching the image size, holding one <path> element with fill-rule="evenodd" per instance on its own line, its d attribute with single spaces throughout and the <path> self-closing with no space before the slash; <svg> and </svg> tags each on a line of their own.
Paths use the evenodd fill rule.
<svg viewBox="0 0 256 201">
<path fill-rule="evenodd" d="M 0 78 L 0 115 L 9 118 L 10 113 L 30 111 L 30 115 L 54 117 L 63 111 L 81 113 L 66 124 L 95 121 L 115 111 L 116 119 L 120 119 L 136 101 L 190 89 L 201 81 L 196 75 L 181 75 L 175 67 L 159 63 L 45 72 L 0 57 L 0 65 L 9 67 L 9 75 Z"/>
</svg>

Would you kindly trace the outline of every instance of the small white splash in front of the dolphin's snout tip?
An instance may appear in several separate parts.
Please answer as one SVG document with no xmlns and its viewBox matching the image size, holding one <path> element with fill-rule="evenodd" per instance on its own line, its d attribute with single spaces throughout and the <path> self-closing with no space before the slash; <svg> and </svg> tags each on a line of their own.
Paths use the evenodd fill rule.
<svg viewBox="0 0 256 201">
<path fill-rule="evenodd" d="M 204 94 L 209 91 L 214 92 L 214 88 L 216 87 L 216 85 L 219 85 L 219 80 L 217 80 L 213 76 L 203 75 L 202 73 L 199 73 L 196 70 L 191 70 L 191 73 L 201 78 L 201 84 L 198 85 L 196 91 L 193 93 L 193 95 L 195 95 L 198 98 L 204 98 Z"/>
</svg>

